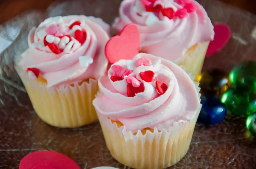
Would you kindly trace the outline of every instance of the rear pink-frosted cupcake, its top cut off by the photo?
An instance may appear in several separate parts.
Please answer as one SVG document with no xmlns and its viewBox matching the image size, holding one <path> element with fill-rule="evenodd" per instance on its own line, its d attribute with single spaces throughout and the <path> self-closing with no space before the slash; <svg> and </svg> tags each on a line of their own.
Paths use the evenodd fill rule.
<svg viewBox="0 0 256 169">
<path fill-rule="evenodd" d="M 204 8 L 195 0 L 123 0 L 113 28 L 134 23 L 140 29 L 140 50 L 201 73 L 214 31 Z"/>
</svg>

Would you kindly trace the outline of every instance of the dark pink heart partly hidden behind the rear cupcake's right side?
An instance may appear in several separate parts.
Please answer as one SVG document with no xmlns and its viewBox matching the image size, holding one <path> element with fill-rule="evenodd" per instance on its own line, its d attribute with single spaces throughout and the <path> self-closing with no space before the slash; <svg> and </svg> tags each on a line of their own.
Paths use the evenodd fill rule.
<svg viewBox="0 0 256 169">
<path fill-rule="evenodd" d="M 231 30 L 225 23 L 214 24 L 214 39 L 210 42 L 206 56 L 213 55 L 220 51 L 229 41 Z"/>
</svg>

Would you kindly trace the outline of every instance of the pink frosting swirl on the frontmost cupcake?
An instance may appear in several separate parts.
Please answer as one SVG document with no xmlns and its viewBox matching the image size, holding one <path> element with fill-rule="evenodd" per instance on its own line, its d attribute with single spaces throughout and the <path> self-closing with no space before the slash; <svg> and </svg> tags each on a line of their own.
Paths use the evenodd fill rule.
<svg viewBox="0 0 256 169">
<path fill-rule="evenodd" d="M 140 58 L 149 60 L 150 64 L 138 65 Z M 127 76 L 121 73 L 123 75 L 119 76 L 122 78 L 114 82 L 112 77 L 118 74 L 113 71 L 116 65 L 122 66 L 126 72 L 129 70 L 131 74 Z M 148 70 L 154 72 L 151 82 L 146 82 L 140 75 Z M 143 84 L 144 91 L 128 97 L 130 79 Z M 156 81 L 167 85 L 163 94 L 159 94 Z M 99 78 L 98 84 L 103 96 L 93 100 L 97 112 L 120 121 L 131 132 L 154 127 L 168 130 L 175 122 L 192 120 L 200 107 L 198 91 L 189 75 L 173 62 L 150 54 L 140 53 L 133 60 L 116 62 L 108 70 L 108 76 Z"/>
</svg>

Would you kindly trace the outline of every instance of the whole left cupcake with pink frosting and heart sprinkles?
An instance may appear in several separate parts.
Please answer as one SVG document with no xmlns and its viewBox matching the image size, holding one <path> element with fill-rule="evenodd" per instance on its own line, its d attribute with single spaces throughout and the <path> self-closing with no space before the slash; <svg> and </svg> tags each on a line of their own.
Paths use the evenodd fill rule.
<svg viewBox="0 0 256 169">
<path fill-rule="evenodd" d="M 51 17 L 29 32 L 16 70 L 38 116 L 55 127 L 97 120 L 92 101 L 106 73 L 110 26 L 83 15 Z"/>
</svg>

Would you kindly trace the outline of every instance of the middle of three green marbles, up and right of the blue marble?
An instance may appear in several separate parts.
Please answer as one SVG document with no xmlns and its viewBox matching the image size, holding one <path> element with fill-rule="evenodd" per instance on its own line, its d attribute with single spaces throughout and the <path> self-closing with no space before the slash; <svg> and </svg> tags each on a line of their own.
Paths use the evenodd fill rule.
<svg viewBox="0 0 256 169">
<path fill-rule="evenodd" d="M 256 93 L 251 90 L 229 89 L 222 95 L 221 102 L 235 115 L 247 117 L 256 112 Z"/>
</svg>

